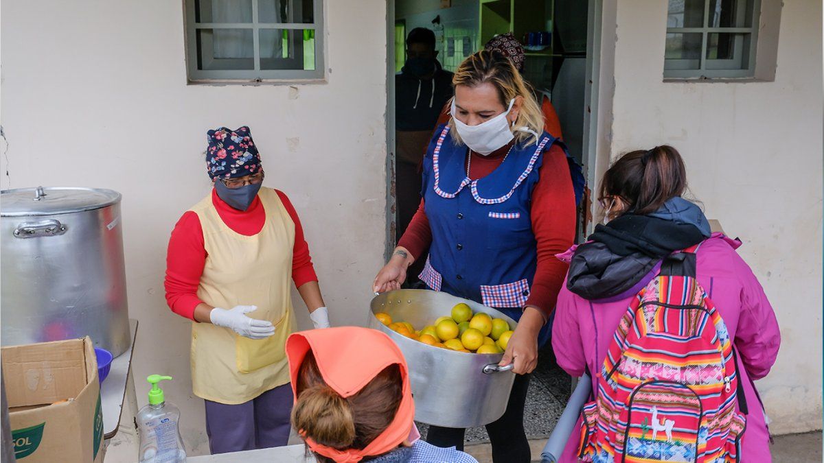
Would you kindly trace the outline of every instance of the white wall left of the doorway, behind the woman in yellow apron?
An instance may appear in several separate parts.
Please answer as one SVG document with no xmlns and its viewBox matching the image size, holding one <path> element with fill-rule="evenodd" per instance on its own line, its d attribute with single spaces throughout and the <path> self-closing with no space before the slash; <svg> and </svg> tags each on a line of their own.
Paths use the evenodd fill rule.
<svg viewBox="0 0 824 463">
<path fill-rule="evenodd" d="M 163 274 L 171 228 L 209 191 L 207 129 L 250 126 L 266 185 L 302 217 L 332 323 L 366 320 L 386 240 L 386 2 L 325 3 L 328 83 L 294 88 L 187 86 L 180 1 L 3 3 L 0 185 L 123 194 L 138 401 L 145 376 L 175 376 L 166 397 L 193 454 L 208 446 L 190 323 L 166 307 Z"/>
</svg>

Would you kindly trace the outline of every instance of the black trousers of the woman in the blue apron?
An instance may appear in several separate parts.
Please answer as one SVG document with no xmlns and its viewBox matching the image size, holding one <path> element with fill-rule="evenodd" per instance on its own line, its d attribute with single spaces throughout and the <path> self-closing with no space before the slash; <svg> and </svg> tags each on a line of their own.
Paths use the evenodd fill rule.
<svg viewBox="0 0 824 463">
<path fill-rule="evenodd" d="M 513 391 L 509 394 L 507 411 L 497 421 L 486 425 L 489 441 L 492 443 L 494 463 L 529 463 L 531 454 L 527 433 L 523 430 L 523 406 L 527 402 L 530 375 L 516 375 Z M 430 426 L 426 442 L 437 447 L 456 447 L 463 450 L 464 432 L 462 428 L 441 428 Z"/>
</svg>

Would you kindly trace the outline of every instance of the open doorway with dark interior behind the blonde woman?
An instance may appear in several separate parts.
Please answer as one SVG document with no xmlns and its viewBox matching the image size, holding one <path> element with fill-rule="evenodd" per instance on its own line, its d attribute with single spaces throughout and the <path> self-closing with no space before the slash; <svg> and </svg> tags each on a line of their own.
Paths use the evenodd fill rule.
<svg viewBox="0 0 824 463">
<path fill-rule="evenodd" d="M 395 188 L 395 77 L 405 63 L 405 37 L 418 27 L 433 31 L 438 61 L 449 72 L 494 35 L 512 32 L 527 43 L 522 76 L 538 98 L 549 99 L 555 107 L 564 143 L 583 166 L 587 179 L 578 206 L 577 240 L 583 241 L 592 232 L 601 8 L 602 0 L 390 0 L 386 17 L 387 256 L 405 226 L 405 220 L 399 223 Z M 548 33 L 548 43 L 535 42 L 541 32 Z"/>
</svg>

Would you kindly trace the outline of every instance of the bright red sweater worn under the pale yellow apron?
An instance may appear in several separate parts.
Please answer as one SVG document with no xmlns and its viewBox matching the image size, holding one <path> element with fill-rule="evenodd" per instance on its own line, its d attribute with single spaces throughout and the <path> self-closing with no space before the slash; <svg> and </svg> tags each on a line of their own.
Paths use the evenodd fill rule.
<svg viewBox="0 0 824 463">
<path fill-rule="evenodd" d="M 292 203 L 282 191 L 278 193 L 283 207 L 289 217 L 295 222 L 295 246 L 292 256 L 292 279 L 297 287 L 304 283 L 317 281 L 315 267 L 311 263 L 309 245 L 303 238 L 303 228 Z M 260 198 L 255 198 L 246 211 L 223 202 L 217 192 L 212 190 L 212 203 L 218 209 L 218 216 L 233 231 L 245 236 L 252 236 L 260 232 L 266 221 L 266 211 Z M 171 311 L 180 316 L 194 320 L 194 307 L 203 302 L 197 295 L 200 276 L 204 273 L 206 263 L 206 249 L 204 247 L 204 232 L 200 226 L 198 214 L 187 211 L 177 221 L 175 229 L 171 231 L 169 250 L 166 255 L 166 303 Z M 231 309 L 232 307 L 223 307 Z"/>
</svg>

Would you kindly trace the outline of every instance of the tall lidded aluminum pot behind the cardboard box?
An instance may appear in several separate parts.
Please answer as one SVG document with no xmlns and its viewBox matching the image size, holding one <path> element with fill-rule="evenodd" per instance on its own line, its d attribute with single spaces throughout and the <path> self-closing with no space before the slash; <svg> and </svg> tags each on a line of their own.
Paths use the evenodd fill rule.
<svg viewBox="0 0 824 463">
<path fill-rule="evenodd" d="M 2 345 L 91 336 L 129 348 L 120 194 L 110 189 L 0 192 Z"/>
</svg>

